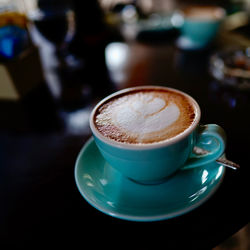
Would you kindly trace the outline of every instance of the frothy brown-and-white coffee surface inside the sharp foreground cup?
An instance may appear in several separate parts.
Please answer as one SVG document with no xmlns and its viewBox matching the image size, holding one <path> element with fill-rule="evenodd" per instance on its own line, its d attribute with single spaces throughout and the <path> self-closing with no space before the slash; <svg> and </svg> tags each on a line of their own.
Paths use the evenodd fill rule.
<svg viewBox="0 0 250 250">
<path fill-rule="evenodd" d="M 191 100 L 167 89 L 138 89 L 108 99 L 94 114 L 105 137 L 128 144 L 149 144 L 173 138 L 191 126 L 196 110 Z"/>
</svg>

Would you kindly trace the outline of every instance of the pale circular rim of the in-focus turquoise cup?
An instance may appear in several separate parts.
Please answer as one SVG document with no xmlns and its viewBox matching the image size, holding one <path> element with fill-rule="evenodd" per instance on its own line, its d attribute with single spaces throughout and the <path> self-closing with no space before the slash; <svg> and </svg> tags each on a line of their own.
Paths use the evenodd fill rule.
<svg viewBox="0 0 250 250">
<path fill-rule="evenodd" d="M 194 107 L 194 111 L 195 111 L 195 119 L 192 122 L 192 124 L 185 129 L 182 133 L 178 134 L 175 137 L 171 137 L 169 139 L 165 139 L 163 141 L 159 141 L 159 142 L 155 142 L 155 143 L 136 143 L 136 144 L 129 144 L 129 143 L 124 143 L 124 142 L 118 142 L 115 140 L 112 140 L 108 137 L 105 137 L 104 135 L 102 135 L 98 129 L 96 128 L 95 124 L 94 124 L 94 115 L 97 111 L 97 109 L 105 102 L 107 102 L 109 99 L 115 97 L 115 96 L 119 96 L 121 94 L 130 92 L 130 91 L 134 91 L 134 90 L 139 90 L 139 89 L 165 89 L 165 90 L 170 90 L 176 93 L 180 93 L 184 96 L 186 96 L 191 103 L 193 104 Z M 136 87 L 131 87 L 131 88 L 125 88 L 122 90 L 119 90 L 117 92 L 114 92 L 111 95 L 108 95 L 107 97 L 105 97 L 104 99 L 102 99 L 100 102 L 98 102 L 95 107 L 93 108 L 91 114 L 90 114 L 90 118 L 89 118 L 89 124 L 90 124 L 90 128 L 91 131 L 93 133 L 94 136 L 96 136 L 99 140 L 101 140 L 102 142 L 116 147 L 116 148 L 121 148 L 121 149 L 129 149 L 129 150 L 145 150 L 145 149 L 156 149 L 156 148 L 162 148 L 164 146 L 169 146 L 172 145 L 176 142 L 179 142 L 180 140 L 186 138 L 188 135 L 190 135 L 192 133 L 193 130 L 195 130 L 195 128 L 197 127 L 197 125 L 199 124 L 200 121 L 200 117 L 201 117 L 201 110 L 199 107 L 199 104 L 196 102 L 196 100 L 191 97 L 190 95 L 174 89 L 174 88 L 169 88 L 169 87 L 164 87 L 164 86 L 154 86 L 154 85 L 147 85 L 147 86 L 136 86 Z"/>
</svg>

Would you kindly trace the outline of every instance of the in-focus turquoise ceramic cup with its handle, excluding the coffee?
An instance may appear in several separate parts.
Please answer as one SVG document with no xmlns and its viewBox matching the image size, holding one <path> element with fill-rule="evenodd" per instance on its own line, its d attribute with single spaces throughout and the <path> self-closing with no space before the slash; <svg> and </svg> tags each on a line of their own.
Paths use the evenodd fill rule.
<svg viewBox="0 0 250 250">
<path fill-rule="evenodd" d="M 129 93 L 135 89 L 170 89 L 156 86 L 142 86 L 118 91 L 99 102 L 90 116 L 90 128 L 95 143 L 109 165 L 124 176 L 141 183 L 155 183 L 171 176 L 178 170 L 200 167 L 218 159 L 225 150 L 226 137 L 224 130 L 215 124 L 199 125 L 200 108 L 189 95 L 175 89 L 170 89 L 186 96 L 194 106 L 195 120 L 184 132 L 166 141 L 152 144 L 127 144 L 117 142 L 103 136 L 94 124 L 95 112 L 104 102 Z M 195 146 L 209 153 L 196 155 Z"/>
</svg>

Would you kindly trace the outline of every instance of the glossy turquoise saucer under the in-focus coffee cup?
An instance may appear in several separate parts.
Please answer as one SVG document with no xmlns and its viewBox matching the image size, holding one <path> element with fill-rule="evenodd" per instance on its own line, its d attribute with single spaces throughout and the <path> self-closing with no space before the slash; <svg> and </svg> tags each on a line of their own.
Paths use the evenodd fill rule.
<svg viewBox="0 0 250 250">
<path fill-rule="evenodd" d="M 225 168 L 216 162 L 182 170 L 156 185 L 136 183 L 113 169 L 91 138 L 75 165 L 82 196 L 101 212 L 125 220 L 170 219 L 200 206 L 217 190 Z"/>
</svg>

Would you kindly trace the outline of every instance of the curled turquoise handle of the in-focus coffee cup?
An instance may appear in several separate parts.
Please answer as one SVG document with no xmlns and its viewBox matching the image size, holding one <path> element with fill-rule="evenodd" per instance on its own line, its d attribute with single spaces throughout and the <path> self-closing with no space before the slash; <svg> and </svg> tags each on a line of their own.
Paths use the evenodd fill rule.
<svg viewBox="0 0 250 250">
<path fill-rule="evenodd" d="M 197 128 L 195 147 L 207 151 L 206 154 L 192 152 L 181 169 L 190 169 L 217 160 L 225 150 L 226 134 L 223 128 L 216 124 L 199 125 Z"/>
</svg>

